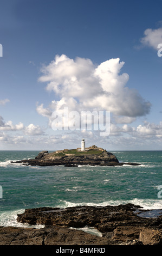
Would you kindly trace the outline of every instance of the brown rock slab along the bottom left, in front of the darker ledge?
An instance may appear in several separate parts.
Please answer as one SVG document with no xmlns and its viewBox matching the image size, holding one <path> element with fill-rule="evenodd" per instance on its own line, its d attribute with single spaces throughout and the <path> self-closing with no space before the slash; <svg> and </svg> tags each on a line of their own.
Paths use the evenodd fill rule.
<svg viewBox="0 0 162 256">
<path fill-rule="evenodd" d="M 64 227 L 0 227 L 0 245 L 107 245 L 108 239 Z"/>
</svg>

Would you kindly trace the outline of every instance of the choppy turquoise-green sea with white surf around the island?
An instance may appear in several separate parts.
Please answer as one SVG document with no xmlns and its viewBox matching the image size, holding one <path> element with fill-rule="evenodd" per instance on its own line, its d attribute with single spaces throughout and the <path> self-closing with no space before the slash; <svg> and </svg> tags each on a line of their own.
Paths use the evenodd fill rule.
<svg viewBox="0 0 162 256">
<path fill-rule="evenodd" d="M 111 151 L 120 162 L 138 162 L 140 166 L 40 167 L 10 163 L 33 159 L 40 151 L 0 151 L 1 226 L 29 227 L 16 221 L 17 214 L 43 206 L 133 203 L 144 209 L 162 209 L 162 151 Z"/>
</svg>

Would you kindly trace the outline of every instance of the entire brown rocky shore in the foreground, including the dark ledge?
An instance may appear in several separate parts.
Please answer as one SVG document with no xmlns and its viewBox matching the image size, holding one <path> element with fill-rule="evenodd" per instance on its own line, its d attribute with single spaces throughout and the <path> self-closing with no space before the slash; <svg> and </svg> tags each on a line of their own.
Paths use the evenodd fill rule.
<svg viewBox="0 0 162 256">
<path fill-rule="evenodd" d="M 17 221 L 44 227 L 0 227 L 0 245 L 162 245 L 162 216 L 141 217 L 145 211 L 133 204 L 26 209 Z M 77 230 L 85 226 L 101 235 Z"/>
</svg>

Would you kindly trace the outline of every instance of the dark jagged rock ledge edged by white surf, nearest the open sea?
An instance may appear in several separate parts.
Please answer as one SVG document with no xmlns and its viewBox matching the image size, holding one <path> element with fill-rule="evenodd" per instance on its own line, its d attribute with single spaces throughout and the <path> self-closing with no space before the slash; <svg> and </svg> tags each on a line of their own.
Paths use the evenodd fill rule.
<svg viewBox="0 0 162 256">
<path fill-rule="evenodd" d="M 114 223 L 126 222 L 138 223 L 144 218 L 138 217 L 133 210 L 135 205 L 119 205 L 119 206 L 76 206 L 66 209 L 60 208 L 35 208 L 26 209 L 23 214 L 18 214 L 18 222 L 27 222 L 29 224 L 45 224 L 45 225 L 64 225 L 67 227 L 82 228 L 85 225 L 96 227 L 99 231 L 114 230 Z M 148 222 L 147 218 L 145 219 Z M 150 222 L 149 222 L 150 223 Z"/>
</svg>

